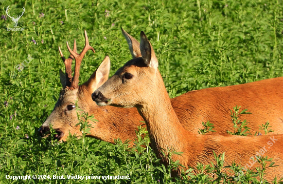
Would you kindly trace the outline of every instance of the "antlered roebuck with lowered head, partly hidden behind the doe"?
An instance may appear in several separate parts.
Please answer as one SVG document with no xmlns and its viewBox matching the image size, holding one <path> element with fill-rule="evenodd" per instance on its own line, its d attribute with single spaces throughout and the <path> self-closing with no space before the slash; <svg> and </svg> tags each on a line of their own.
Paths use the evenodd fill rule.
<svg viewBox="0 0 283 184">
<path fill-rule="evenodd" d="M 139 42 L 123 29 L 122 33 L 128 41 L 133 58 L 140 57 Z M 87 39 L 86 34 L 85 37 Z M 54 110 L 39 129 L 40 133 L 47 133 L 49 126 L 52 125 L 52 128 L 58 133 L 55 135 L 56 138 L 61 141 L 66 140 L 68 132 L 80 136 L 79 126 L 75 126 L 79 122 L 74 106 L 77 101 L 77 105 L 84 112 L 94 114 L 99 120 L 95 123 L 90 122 L 94 128 L 91 129 L 89 136 L 112 144 L 114 144 L 114 138 L 120 138 L 122 141 L 134 140 L 137 126 L 144 124 L 140 122 L 143 121 L 143 118 L 135 108 L 100 107 L 91 99 L 91 94 L 108 79 L 109 71 L 106 67 L 110 65 L 109 57 L 104 58 L 99 68 L 84 84 L 80 86 L 77 84 L 77 87 L 73 89 L 70 86 L 73 81 L 71 65 L 74 56 L 70 54 L 65 59 L 60 49 L 59 52 L 66 70 L 66 76 L 62 71 L 60 72 L 63 89 Z M 74 42 L 73 52 L 76 52 L 76 42 Z M 77 61 L 81 62 L 78 58 Z M 78 66 L 77 63 L 77 70 L 79 70 Z M 269 120 L 274 130 L 269 134 L 278 134 L 283 133 L 283 114 L 280 113 L 283 111 L 281 106 L 283 87 L 278 84 L 283 84 L 283 77 L 244 85 L 195 90 L 172 98 L 171 104 L 182 126 L 193 133 L 198 133 L 198 130 L 203 128 L 201 122 L 207 120 L 214 124 L 217 134 L 226 133 L 226 130 L 232 131 L 233 124 L 229 116 L 229 109 L 240 105 L 253 113 L 241 115 L 241 118 L 250 122 L 249 127 L 252 133 L 258 131 L 259 126 Z M 268 98 L 266 94 L 270 94 Z M 268 107 L 268 109 L 258 108 L 259 106 Z"/>
</svg>

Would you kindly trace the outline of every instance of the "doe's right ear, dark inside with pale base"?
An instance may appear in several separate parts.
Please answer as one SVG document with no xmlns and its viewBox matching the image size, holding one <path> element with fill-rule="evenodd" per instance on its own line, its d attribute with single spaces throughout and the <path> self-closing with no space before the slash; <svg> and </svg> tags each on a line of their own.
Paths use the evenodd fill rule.
<svg viewBox="0 0 283 184">
<path fill-rule="evenodd" d="M 146 34 L 144 33 L 144 31 L 140 32 L 140 46 L 139 47 L 140 47 L 141 57 L 143 57 L 145 64 L 156 70 L 158 67 L 158 61 L 155 56 L 154 50 Z"/>
</svg>

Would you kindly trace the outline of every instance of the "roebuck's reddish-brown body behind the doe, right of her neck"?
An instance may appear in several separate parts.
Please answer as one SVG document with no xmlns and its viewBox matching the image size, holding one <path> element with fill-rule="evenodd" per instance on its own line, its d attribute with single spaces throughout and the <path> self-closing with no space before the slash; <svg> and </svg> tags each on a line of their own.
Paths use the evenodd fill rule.
<svg viewBox="0 0 283 184">
<path fill-rule="evenodd" d="M 190 127 L 197 133 L 202 128 L 201 122 L 210 120 L 216 133 L 233 131 L 231 112 L 236 105 L 241 110 L 247 109 L 252 114 L 241 115 L 240 118 L 250 122 L 252 135 L 259 131 L 259 126 L 270 122 L 270 134 L 283 133 L 283 77 L 265 79 L 242 85 L 207 88 L 187 92 L 171 100 L 175 113 L 181 124 Z M 182 99 L 182 100 L 179 100 Z M 194 122 L 184 124 L 183 122 Z M 263 134 L 264 132 L 260 130 Z"/>
</svg>

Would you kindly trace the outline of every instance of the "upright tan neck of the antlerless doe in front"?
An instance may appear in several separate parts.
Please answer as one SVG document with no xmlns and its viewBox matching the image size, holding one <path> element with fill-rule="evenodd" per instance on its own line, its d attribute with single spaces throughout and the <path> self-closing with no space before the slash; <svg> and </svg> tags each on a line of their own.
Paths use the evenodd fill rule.
<svg viewBox="0 0 283 184">
<path fill-rule="evenodd" d="M 191 136 L 191 133 L 180 124 L 171 106 L 162 78 L 156 86 L 157 88 L 151 91 L 151 97 L 137 107 L 138 112 L 146 121 L 153 150 L 157 156 L 163 157 L 161 149 L 167 151 L 173 148 L 177 152 L 184 152 L 186 157 L 190 157 L 188 154 L 192 152 L 188 149 L 198 144 L 197 140 L 193 140 L 196 136 Z"/>
</svg>

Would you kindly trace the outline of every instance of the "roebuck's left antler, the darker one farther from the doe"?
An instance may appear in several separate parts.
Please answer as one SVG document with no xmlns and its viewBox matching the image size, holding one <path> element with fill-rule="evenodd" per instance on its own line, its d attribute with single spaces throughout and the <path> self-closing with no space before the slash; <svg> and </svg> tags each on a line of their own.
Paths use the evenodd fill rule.
<svg viewBox="0 0 283 184">
<path fill-rule="evenodd" d="M 63 56 L 63 53 L 58 47 L 60 56 L 65 64 L 65 72 L 66 72 L 66 87 L 69 87 L 72 84 L 72 62 L 74 59 L 74 56 L 72 54 L 69 55 L 67 59 Z M 76 39 L 74 39 L 74 49 L 73 52 L 77 53 L 77 44 L 76 44 Z"/>
</svg>

